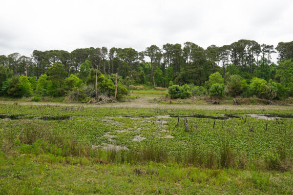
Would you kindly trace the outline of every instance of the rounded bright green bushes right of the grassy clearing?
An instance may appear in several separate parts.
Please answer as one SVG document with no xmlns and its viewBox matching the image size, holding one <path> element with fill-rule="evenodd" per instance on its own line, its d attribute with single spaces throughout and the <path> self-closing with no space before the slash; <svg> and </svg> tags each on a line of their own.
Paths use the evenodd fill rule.
<svg viewBox="0 0 293 195">
<path fill-rule="evenodd" d="M 263 78 L 256 77 L 249 80 L 243 79 L 239 75 L 230 75 L 229 73 L 226 75 L 225 80 L 226 86 L 224 84 L 224 78 L 222 78 L 220 73 L 216 72 L 209 76 L 209 80 L 205 83 L 206 87 L 193 86 L 192 84 L 182 87 L 172 85 L 168 88 L 168 95 L 171 98 L 188 98 L 190 96 L 205 95 L 209 95 L 211 98 L 222 98 L 225 95 L 230 97 L 243 96 L 247 98 L 255 96 L 257 98 L 272 100 L 288 98 L 293 88 L 292 84 L 287 84 L 286 87 L 282 83 L 273 82 L 272 79 L 269 82 Z M 290 81 L 290 79 L 288 80 Z"/>
</svg>

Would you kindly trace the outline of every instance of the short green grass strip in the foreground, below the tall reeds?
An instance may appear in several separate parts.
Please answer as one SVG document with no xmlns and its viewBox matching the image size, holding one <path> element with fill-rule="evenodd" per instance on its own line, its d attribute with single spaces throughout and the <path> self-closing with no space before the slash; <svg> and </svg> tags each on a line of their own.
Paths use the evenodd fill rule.
<svg viewBox="0 0 293 195">
<path fill-rule="evenodd" d="M 92 158 L 0 155 L 0 194 L 293 194 L 293 172 L 201 169 L 177 163 L 98 164 Z"/>
</svg>

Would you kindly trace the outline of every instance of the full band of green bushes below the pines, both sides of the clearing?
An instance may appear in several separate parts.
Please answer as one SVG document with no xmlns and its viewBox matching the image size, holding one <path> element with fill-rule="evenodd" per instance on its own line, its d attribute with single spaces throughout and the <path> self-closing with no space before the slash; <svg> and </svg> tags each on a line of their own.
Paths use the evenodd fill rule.
<svg viewBox="0 0 293 195">
<path fill-rule="evenodd" d="M 155 83 L 161 86 L 169 86 L 168 96 L 171 98 L 189 98 L 191 96 L 207 96 L 210 98 L 238 97 L 245 98 L 257 97 L 265 99 L 282 99 L 293 96 L 293 62 L 292 60 L 280 61 L 279 65 L 270 64 L 266 59 L 259 60 L 259 63 L 252 64 L 250 73 L 245 71 L 245 67 L 239 67 L 234 64 L 228 64 L 224 71 L 219 67 L 219 72 L 215 72 L 209 77 L 202 75 L 201 78 L 194 78 L 190 81 L 191 84 L 179 86 L 178 83 L 184 84 L 185 77 L 188 75 L 172 74 L 172 67 L 168 67 L 166 72 L 162 71 L 160 67 L 154 69 Z M 74 101 L 82 97 L 94 98 L 95 88 L 97 88 L 98 95 L 106 95 L 108 97 L 115 96 L 115 80 L 116 76 L 103 75 L 96 68 L 91 69 L 92 64 L 89 59 L 81 63 L 76 74 L 71 74 L 67 77 L 67 70 L 64 65 L 54 63 L 50 66 L 46 74 L 38 78 L 12 76 L 13 71 L 8 67 L 0 65 L 0 95 L 22 97 L 36 95 L 64 97 L 69 96 L 73 98 L 73 94 L 77 95 Z M 138 66 L 139 71 L 131 71 L 129 77 L 117 77 L 118 90 L 117 98 L 122 98 L 126 95 L 133 85 L 145 83 L 146 88 L 152 83 L 149 81 L 151 74 L 145 74 L 145 68 L 150 68 L 149 63 L 145 66 Z M 126 71 L 126 70 L 123 70 Z M 97 86 L 96 86 L 97 76 Z M 257 77 L 255 77 L 257 76 Z M 205 81 L 208 78 L 207 81 Z M 269 78 L 272 78 L 269 80 Z M 200 82 L 195 82 L 200 79 Z M 149 80 L 149 81 L 147 81 Z M 192 79 L 191 79 L 192 80 Z M 197 83 L 204 86 L 194 86 L 192 83 Z M 152 88 L 155 86 L 151 86 Z M 155 87 L 156 88 L 156 87 Z M 156 88 L 157 89 L 157 88 Z M 163 88 L 162 88 L 163 89 Z"/>
</svg>

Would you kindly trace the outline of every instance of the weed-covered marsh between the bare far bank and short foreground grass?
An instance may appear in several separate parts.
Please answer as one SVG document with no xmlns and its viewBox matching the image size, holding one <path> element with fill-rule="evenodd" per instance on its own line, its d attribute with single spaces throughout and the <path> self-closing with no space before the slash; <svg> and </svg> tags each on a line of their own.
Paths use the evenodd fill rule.
<svg viewBox="0 0 293 195">
<path fill-rule="evenodd" d="M 254 112 L 277 113 L 258 108 Z M 292 111 L 278 112 L 289 115 Z M 292 168 L 292 120 L 256 121 L 247 115 L 250 110 L 191 112 L 166 108 L 0 105 L 0 113 L 28 118 L 0 120 L 0 150 L 5 154 L 89 157 L 95 158 L 97 163 L 152 161 L 221 169 L 248 169 L 253 165 L 260 170 L 275 171 Z M 166 117 L 162 121 L 159 117 L 147 118 L 158 115 L 177 118 Z M 30 119 L 40 116 L 67 116 L 70 119 Z M 178 116 L 184 119 L 180 120 Z M 240 117 L 240 120 L 229 116 Z M 105 133 L 109 133 L 111 140 L 104 136 Z M 140 135 L 146 139 L 132 141 Z M 278 146 L 279 142 L 284 143 L 283 146 Z M 103 144 L 127 146 L 129 150 L 104 151 Z M 101 147 L 92 149 L 91 145 Z"/>
</svg>

